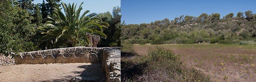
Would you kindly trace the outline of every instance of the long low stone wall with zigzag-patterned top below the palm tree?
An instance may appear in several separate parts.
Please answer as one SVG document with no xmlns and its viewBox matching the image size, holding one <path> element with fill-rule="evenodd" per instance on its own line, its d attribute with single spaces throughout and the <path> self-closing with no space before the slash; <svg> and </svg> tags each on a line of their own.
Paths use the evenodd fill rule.
<svg viewBox="0 0 256 82">
<path fill-rule="evenodd" d="M 51 50 L 21 52 L 15 57 L 16 64 L 43 63 L 97 63 L 101 62 L 104 48 L 69 47 Z"/>
</svg>

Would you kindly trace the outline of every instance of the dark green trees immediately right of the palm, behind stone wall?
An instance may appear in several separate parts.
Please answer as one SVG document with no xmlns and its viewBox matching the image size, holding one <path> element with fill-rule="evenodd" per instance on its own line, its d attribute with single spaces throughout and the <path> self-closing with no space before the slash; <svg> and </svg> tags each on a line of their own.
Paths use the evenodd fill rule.
<svg viewBox="0 0 256 82">
<path fill-rule="evenodd" d="M 107 46 L 120 46 L 121 44 L 121 27 L 124 22 L 121 23 L 121 9 L 119 6 L 113 7 L 112 14 L 110 12 L 104 12 L 98 14 L 99 18 L 102 21 L 110 24 L 108 29 L 103 29 L 103 33 L 107 35 L 107 39 L 102 39 L 98 46 L 99 47 L 107 47 Z"/>
</svg>

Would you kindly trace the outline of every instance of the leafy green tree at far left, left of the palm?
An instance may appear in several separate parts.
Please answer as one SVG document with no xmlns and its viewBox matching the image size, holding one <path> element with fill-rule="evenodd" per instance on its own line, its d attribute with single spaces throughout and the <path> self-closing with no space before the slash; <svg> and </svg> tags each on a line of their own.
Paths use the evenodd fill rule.
<svg viewBox="0 0 256 82">
<path fill-rule="evenodd" d="M 14 57 L 20 45 L 34 34 L 35 24 L 31 24 L 30 12 L 16 5 L 15 0 L 3 0 L 0 7 L 0 53 Z"/>
</svg>

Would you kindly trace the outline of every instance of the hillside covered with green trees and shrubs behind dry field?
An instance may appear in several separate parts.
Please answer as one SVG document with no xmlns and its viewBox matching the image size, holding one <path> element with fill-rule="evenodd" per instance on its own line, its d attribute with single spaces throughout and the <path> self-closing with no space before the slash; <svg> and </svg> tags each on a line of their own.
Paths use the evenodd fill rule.
<svg viewBox="0 0 256 82">
<path fill-rule="evenodd" d="M 248 44 L 256 42 L 256 14 L 248 10 L 222 18 L 218 13 L 203 13 L 198 17 L 181 15 L 171 21 L 163 19 L 150 24 L 129 24 L 121 29 L 121 41 L 133 44 Z"/>
</svg>

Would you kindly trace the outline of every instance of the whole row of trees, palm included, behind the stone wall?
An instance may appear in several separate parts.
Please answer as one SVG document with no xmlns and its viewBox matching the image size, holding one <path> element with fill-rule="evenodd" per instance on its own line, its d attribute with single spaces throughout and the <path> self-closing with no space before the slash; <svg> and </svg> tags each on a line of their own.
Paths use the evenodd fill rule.
<svg viewBox="0 0 256 82">
<path fill-rule="evenodd" d="M 33 1 L 1 0 L 0 53 L 14 56 L 18 52 L 63 47 L 120 46 L 119 6 L 113 7 L 112 13 L 97 14 L 89 10 L 81 12 L 83 3 L 43 0 L 34 4 Z M 92 42 L 94 37 L 100 41 Z"/>
</svg>

